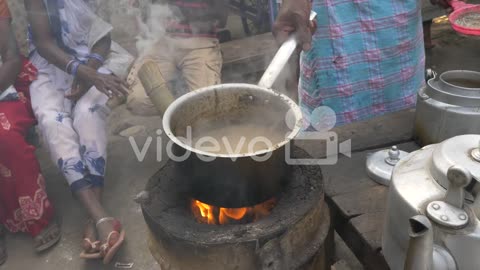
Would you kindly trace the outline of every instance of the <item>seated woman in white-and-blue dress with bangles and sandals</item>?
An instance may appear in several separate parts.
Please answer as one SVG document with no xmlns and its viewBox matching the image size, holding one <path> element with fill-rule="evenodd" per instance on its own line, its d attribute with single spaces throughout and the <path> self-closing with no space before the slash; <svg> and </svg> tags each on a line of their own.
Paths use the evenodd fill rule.
<svg viewBox="0 0 480 270">
<path fill-rule="evenodd" d="M 25 6 L 31 61 L 39 70 L 30 87 L 33 111 L 53 161 L 90 217 L 81 256 L 109 263 L 125 232 L 101 203 L 110 112 L 106 103 L 127 94 L 118 76 L 126 73 L 131 57 L 112 43 L 112 26 L 86 1 L 25 0 Z"/>
</svg>

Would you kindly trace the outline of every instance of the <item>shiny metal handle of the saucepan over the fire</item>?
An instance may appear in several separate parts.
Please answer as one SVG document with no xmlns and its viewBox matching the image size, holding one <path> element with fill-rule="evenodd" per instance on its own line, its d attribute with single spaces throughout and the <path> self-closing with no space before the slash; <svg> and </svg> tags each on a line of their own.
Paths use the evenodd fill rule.
<svg viewBox="0 0 480 270">
<path fill-rule="evenodd" d="M 310 20 L 313 21 L 317 17 L 317 13 L 312 11 L 310 13 Z M 258 86 L 262 88 L 272 88 L 273 84 L 277 80 L 278 76 L 282 72 L 288 60 L 292 56 L 293 52 L 297 48 L 298 42 L 295 34 L 292 34 L 290 38 L 285 41 L 278 52 L 275 54 L 272 62 L 268 66 L 267 70 L 263 74 Z"/>
</svg>

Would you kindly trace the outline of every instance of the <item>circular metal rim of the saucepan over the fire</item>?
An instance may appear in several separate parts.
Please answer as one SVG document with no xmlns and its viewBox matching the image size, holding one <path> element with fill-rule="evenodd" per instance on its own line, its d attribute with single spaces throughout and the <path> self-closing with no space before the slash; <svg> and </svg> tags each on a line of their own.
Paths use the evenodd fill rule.
<svg viewBox="0 0 480 270">
<path fill-rule="evenodd" d="M 288 134 L 288 136 L 285 138 L 285 140 L 273 145 L 270 148 L 267 148 L 267 149 L 264 149 L 264 150 L 261 150 L 261 151 L 256 151 L 256 152 L 253 152 L 253 153 L 243 153 L 243 154 L 229 155 L 229 154 L 215 154 L 215 153 L 206 152 L 206 151 L 196 149 L 192 146 L 189 146 L 189 145 L 183 143 L 182 141 L 180 141 L 178 139 L 177 136 L 175 136 L 173 134 L 173 131 L 171 129 L 171 121 L 170 121 L 171 118 L 172 118 L 172 115 L 175 113 L 177 108 L 179 108 L 181 105 L 187 103 L 190 100 L 191 97 L 199 95 L 200 93 L 208 93 L 208 92 L 219 91 L 219 90 L 225 91 L 225 90 L 232 89 L 232 88 L 235 88 L 235 89 L 242 88 L 242 89 L 252 89 L 252 90 L 256 90 L 256 91 L 263 91 L 265 93 L 268 93 L 268 94 L 271 94 L 273 96 L 279 97 L 281 100 L 283 100 L 283 102 L 285 102 L 290 107 L 290 111 L 293 112 L 293 114 L 295 116 L 295 119 L 296 119 L 295 126 L 294 126 L 293 130 Z M 189 92 L 189 93 L 179 97 L 172 104 L 170 104 L 170 106 L 165 111 L 165 113 L 163 115 L 162 124 L 163 124 L 163 130 L 164 130 L 165 134 L 169 137 L 169 139 L 171 141 L 173 141 L 175 144 L 177 144 L 178 146 L 186 149 L 187 151 L 190 151 L 190 152 L 193 152 L 193 153 L 196 153 L 196 154 L 199 154 L 199 155 L 207 156 L 207 157 L 241 158 L 241 157 L 253 157 L 253 156 L 264 155 L 264 154 L 273 152 L 273 151 L 285 146 L 286 144 L 291 142 L 300 133 L 300 130 L 302 128 L 302 121 L 303 121 L 303 114 L 302 114 L 299 106 L 291 98 L 287 97 L 286 95 L 275 92 L 272 89 L 267 89 L 267 88 L 260 87 L 258 85 L 245 84 L 245 83 L 229 83 L 229 84 L 219 84 L 219 85 L 213 85 L 213 86 L 200 88 L 198 90 Z"/>
</svg>

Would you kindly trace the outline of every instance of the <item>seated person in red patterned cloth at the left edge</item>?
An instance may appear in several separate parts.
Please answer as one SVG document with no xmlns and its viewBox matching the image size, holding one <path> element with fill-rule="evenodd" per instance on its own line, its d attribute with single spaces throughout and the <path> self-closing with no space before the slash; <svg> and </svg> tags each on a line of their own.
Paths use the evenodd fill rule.
<svg viewBox="0 0 480 270">
<path fill-rule="evenodd" d="M 5 231 L 24 232 L 34 239 L 37 252 L 60 240 L 53 205 L 25 136 L 35 118 L 28 88 L 37 70 L 22 58 L 10 25 L 6 0 L 0 0 L 0 265 L 7 259 Z"/>
</svg>

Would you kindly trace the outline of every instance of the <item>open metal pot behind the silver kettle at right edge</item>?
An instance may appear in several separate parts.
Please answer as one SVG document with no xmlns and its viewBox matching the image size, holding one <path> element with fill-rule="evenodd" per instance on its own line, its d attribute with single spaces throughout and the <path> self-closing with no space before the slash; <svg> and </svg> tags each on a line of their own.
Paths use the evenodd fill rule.
<svg viewBox="0 0 480 270">
<path fill-rule="evenodd" d="M 415 137 L 421 145 L 480 134 L 480 73 L 448 71 L 418 93 Z"/>
</svg>

